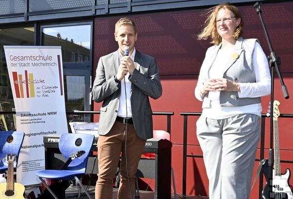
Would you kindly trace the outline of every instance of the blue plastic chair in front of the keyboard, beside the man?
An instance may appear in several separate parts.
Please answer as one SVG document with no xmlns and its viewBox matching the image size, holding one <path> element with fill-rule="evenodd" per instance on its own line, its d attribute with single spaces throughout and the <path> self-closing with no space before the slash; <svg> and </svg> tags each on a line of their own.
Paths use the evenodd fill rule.
<svg viewBox="0 0 293 199">
<path fill-rule="evenodd" d="M 81 142 L 81 143 L 80 143 Z M 44 179 L 55 179 L 55 180 L 72 180 L 75 179 L 79 185 L 79 196 L 81 188 L 84 193 L 91 199 L 88 191 L 85 189 L 84 185 L 80 179 L 85 174 L 85 169 L 87 165 L 87 159 L 94 142 L 94 135 L 90 134 L 79 134 L 79 133 L 64 133 L 60 136 L 59 149 L 61 154 L 65 159 L 69 159 L 73 154 L 84 151 L 84 154 L 78 158 L 73 159 L 67 168 L 64 170 L 41 170 L 36 172 L 36 175 L 40 178 L 42 183 L 48 189 L 55 199 L 58 199 L 50 187 L 45 183 Z"/>
</svg>

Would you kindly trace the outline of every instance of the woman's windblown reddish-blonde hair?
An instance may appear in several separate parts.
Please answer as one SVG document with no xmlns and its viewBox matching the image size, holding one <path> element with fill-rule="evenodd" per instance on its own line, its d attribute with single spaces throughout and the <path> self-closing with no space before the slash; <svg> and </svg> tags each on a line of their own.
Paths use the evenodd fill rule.
<svg viewBox="0 0 293 199">
<path fill-rule="evenodd" d="M 238 8 L 233 6 L 229 2 L 221 3 L 217 6 L 209 8 L 208 12 L 206 13 L 206 15 L 208 15 L 208 18 L 205 21 L 206 27 L 198 35 L 198 40 L 207 40 L 209 37 L 211 37 L 212 41 L 210 43 L 213 43 L 215 45 L 219 45 L 222 42 L 222 38 L 218 34 L 217 27 L 216 27 L 217 14 L 218 14 L 219 10 L 222 8 L 230 10 L 232 13 L 234 13 L 235 17 L 241 18 L 241 15 L 240 15 Z M 241 36 L 243 25 L 244 25 L 244 23 L 241 18 L 240 24 L 236 27 L 236 30 L 233 34 L 233 37 L 235 40 L 237 40 Z"/>
</svg>

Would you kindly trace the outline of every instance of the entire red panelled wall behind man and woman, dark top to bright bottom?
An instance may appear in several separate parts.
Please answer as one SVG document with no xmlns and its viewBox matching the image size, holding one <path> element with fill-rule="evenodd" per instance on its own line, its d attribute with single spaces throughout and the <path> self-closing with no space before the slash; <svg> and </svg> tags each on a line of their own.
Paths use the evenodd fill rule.
<svg viewBox="0 0 293 199">
<path fill-rule="evenodd" d="M 243 36 L 244 38 L 258 38 L 266 55 L 270 55 L 259 16 L 252 6 L 251 4 L 239 7 L 245 23 Z M 293 95 L 293 2 L 267 3 L 263 4 L 261 8 L 273 50 L 277 56 L 281 57 L 284 82 L 289 95 Z M 201 112 L 202 110 L 201 102 L 194 97 L 200 66 L 206 49 L 210 46 L 209 40 L 197 40 L 197 34 L 204 24 L 204 18 L 201 17 L 202 11 L 203 9 L 190 9 L 130 16 L 137 22 L 137 50 L 155 57 L 160 67 L 163 96 L 158 100 L 151 100 L 152 109 L 154 112 L 174 112 L 174 116 L 171 117 L 172 166 L 175 171 L 178 194 L 182 193 L 183 161 L 184 117 L 180 113 Z M 101 56 L 118 49 L 117 42 L 114 40 L 114 24 L 120 17 L 99 16 L 95 19 L 94 69 Z M 274 99 L 281 103 L 279 106 L 281 114 L 291 114 L 293 112 L 292 96 L 289 100 L 284 99 L 277 75 L 274 82 Z M 267 113 L 270 101 L 270 96 L 262 98 L 263 113 Z M 94 103 L 94 110 L 100 110 L 100 106 L 101 103 Z M 95 116 L 95 121 L 98 119 L 99 116 Z M 198 116 L 188 117 L 188 153 L 198 155 L 201 154 L 201 151 L 196 138 L 197 119 Z M 292 160 L 293 157 L 292 123 L 292 119 L 279 118 L 281 159 L 283 160 Z M 266 118 L 265 127 L 265 158 L 268 158 L 270 118 Z M 166 117 L 154 116 L 154 129 L 166 130 L 166 128 Z M 259 158 L 259 153 L 257 158 Z M 257 165 L 258 162 L 255 163 L 255 172 Z M 281 164 L 282 169 L 287 167 L 293 170 L 293 164 Z M 188 158 L 187 172 L 187 194 L 206 196 L 208 179 L 203 159 Z M 290 179 L 290 183 L 293 184 L 292 179 Z M 258 185 L 255 185 L 252 190 L 251 199 L 258 198 L 256 186 Z"/>
</svg>

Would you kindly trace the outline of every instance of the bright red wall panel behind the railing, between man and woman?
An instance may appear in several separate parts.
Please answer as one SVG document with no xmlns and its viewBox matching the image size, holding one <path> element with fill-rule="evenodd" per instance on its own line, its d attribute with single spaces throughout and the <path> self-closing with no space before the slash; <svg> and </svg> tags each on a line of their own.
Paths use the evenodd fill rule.
<svg viewBox="0 0 293 199">
<path fill-rule="evenodd" d="M 174 112 L 171 117 L 171 141 L 172 143 L 183 143 L 183 116 L 181 112 L 201 112 L 201 102 L 194 97 L 194 89 L 197 82 L 197 76 L 185 76 L 184 80 L 180 76 L 172 76 L 161 78 L 163 85 L 163 96 L 158 100 L 151 100 L 153 111 Z M 155 116 L 156 117 L 156 116 Z M 195 119 L 195 117 L 194 117 Z M 195 139 L 195 121 L 188 120 L 193 135 L 189 134 L 188 140 Z M 155 129 L 159 129 L 157 125 L 165 124 L 164 121 L 154 120 Z"/>
</svg>

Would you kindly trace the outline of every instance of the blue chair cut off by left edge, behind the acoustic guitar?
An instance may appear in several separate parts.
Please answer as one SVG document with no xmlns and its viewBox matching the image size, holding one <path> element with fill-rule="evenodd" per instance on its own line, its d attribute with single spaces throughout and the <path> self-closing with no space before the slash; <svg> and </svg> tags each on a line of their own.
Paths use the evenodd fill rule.
<svg viewBox="0 0 293 199">
<path fill-rule="evenodd" d="M 0 173 L 8 169 L 6 161 L 7 154 L 15 154 L 16 160 L 13 167 L 17 167 L 17 160 L 20 154 L 24 133 L 19 131 L 0 131 Z"/>
</svg>

